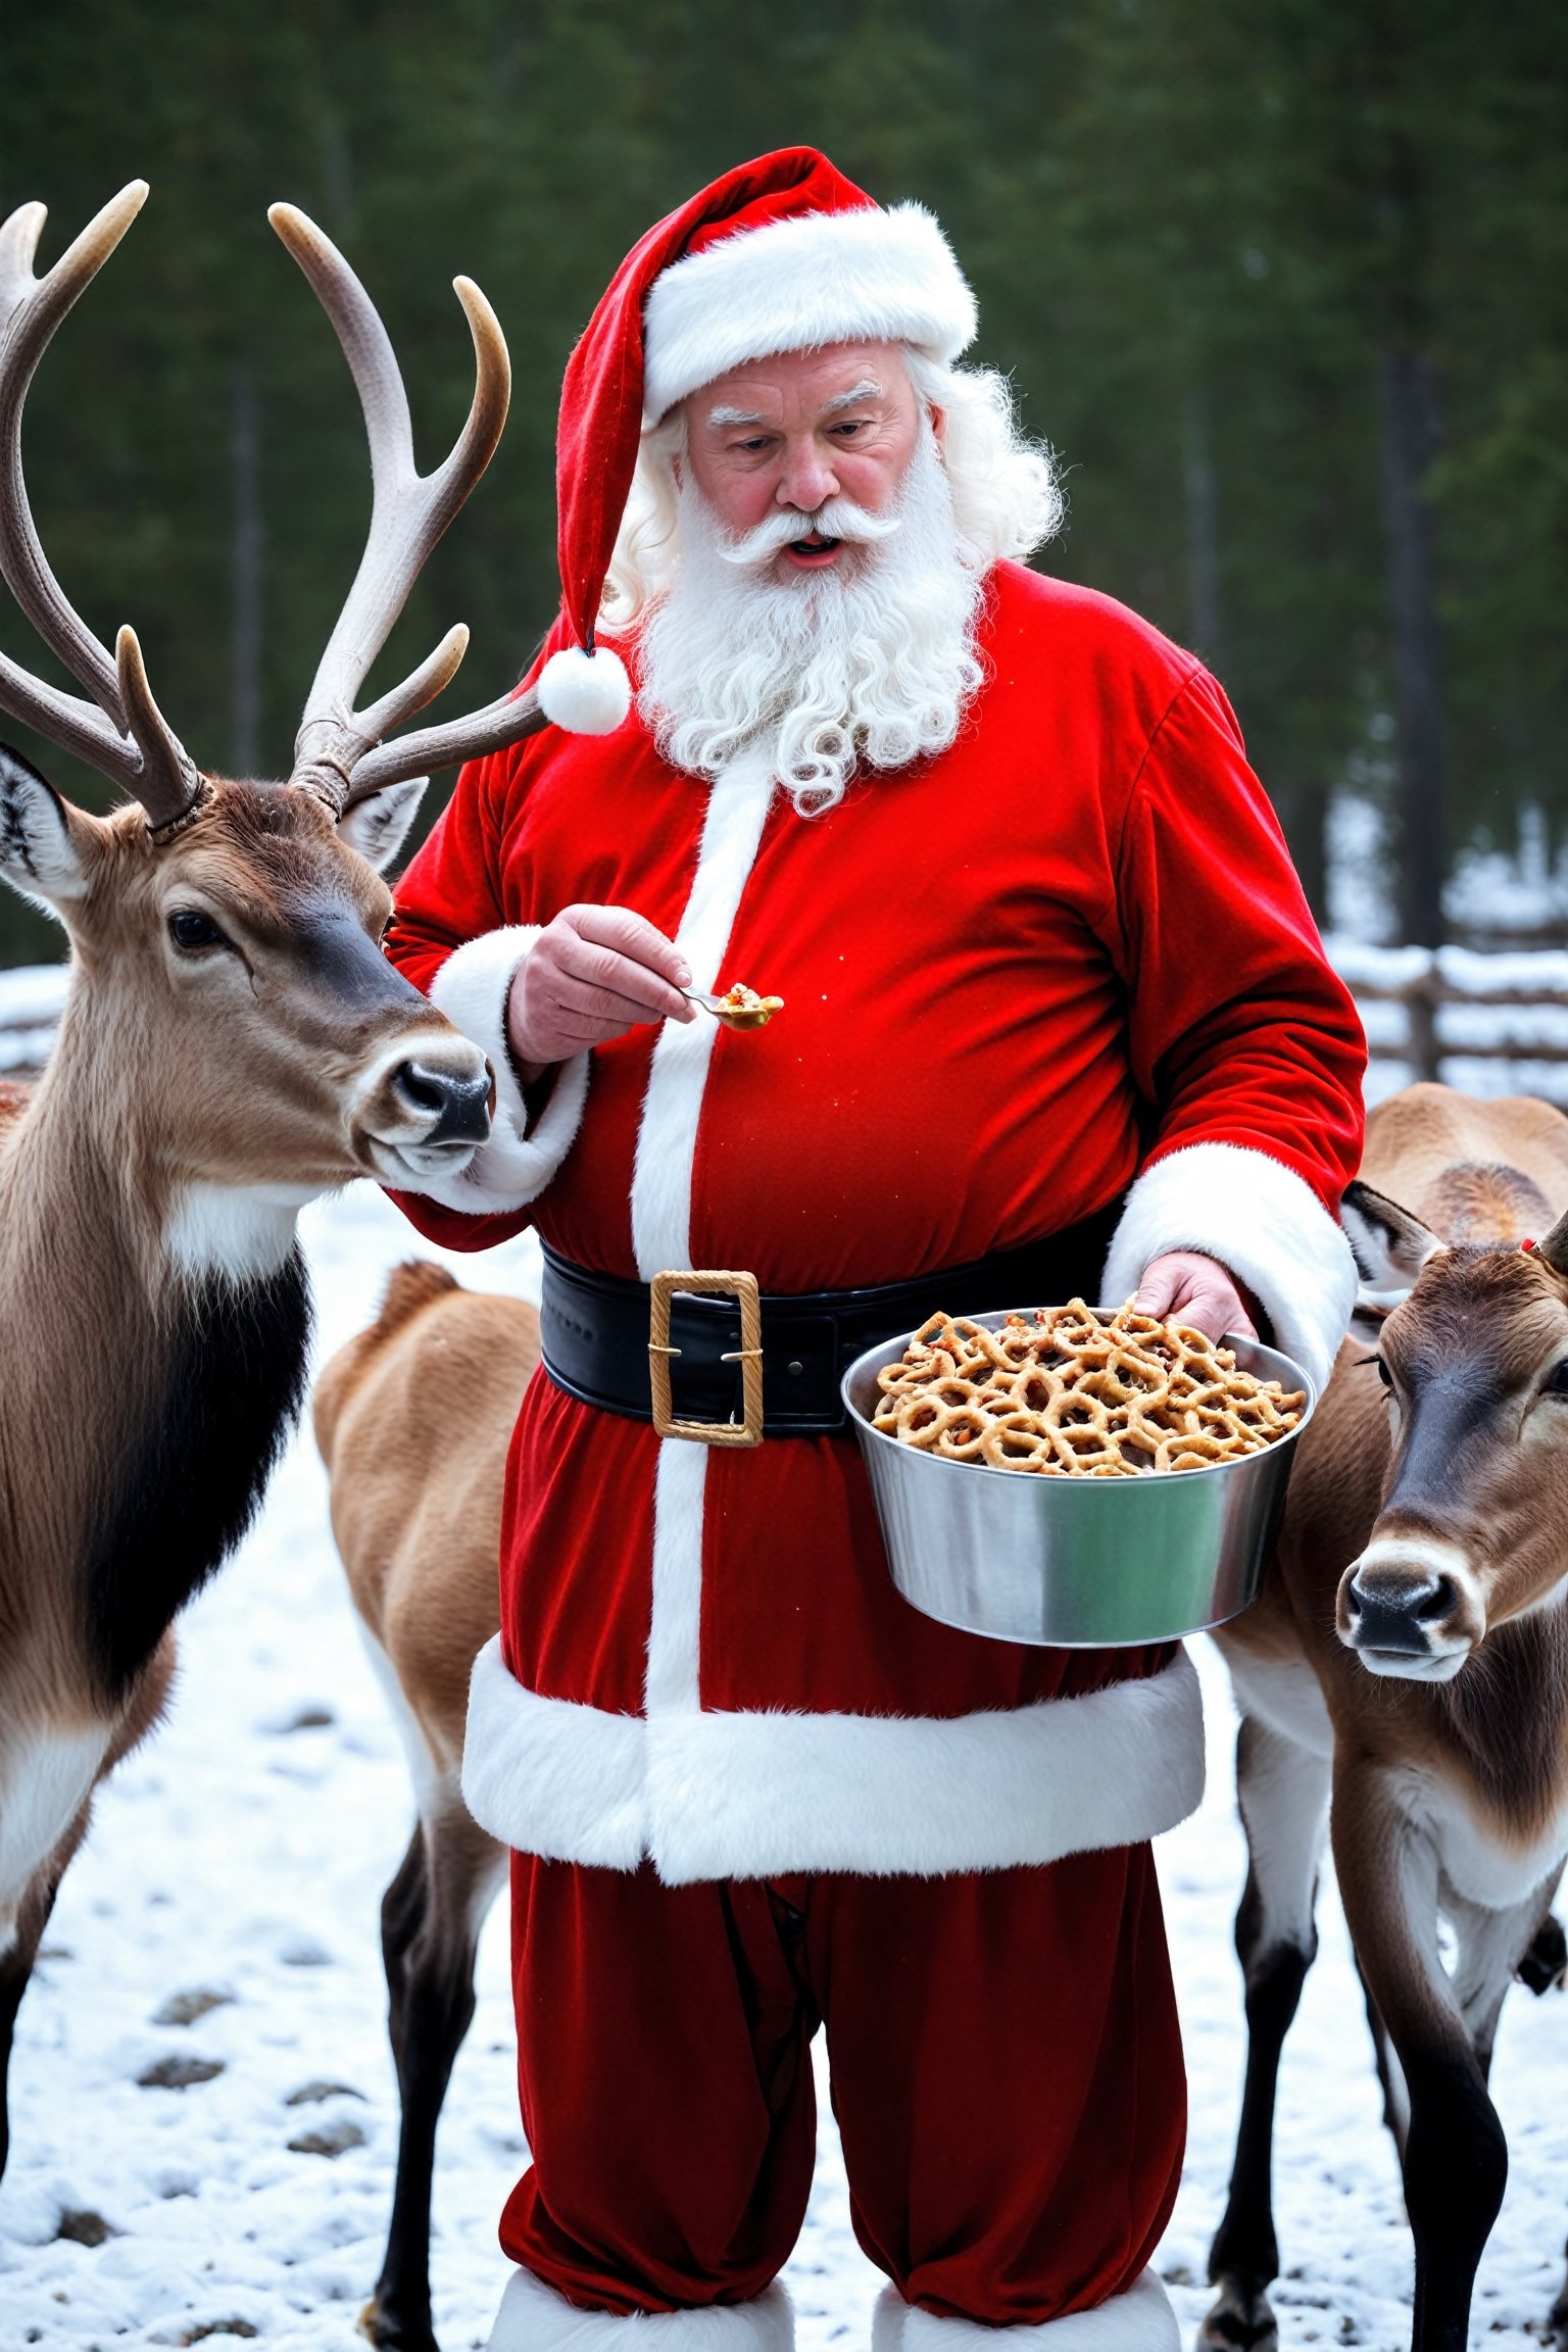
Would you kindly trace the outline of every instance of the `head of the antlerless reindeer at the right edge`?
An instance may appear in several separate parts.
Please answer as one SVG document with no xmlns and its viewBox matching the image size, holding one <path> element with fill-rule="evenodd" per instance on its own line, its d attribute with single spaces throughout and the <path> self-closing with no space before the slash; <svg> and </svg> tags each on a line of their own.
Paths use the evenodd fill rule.
<svg viewBox="0 0 1568 2352">
<path fill-rule="evenodd" d="M 1568 1216 L 1523 1247 L 1450 1247 L 1354 1183 L 1342 1221 L 1387 1308 L 1394 1428 L 1338 1632 L 1375 1675 L 1448 1682 L 1568 1576 Z"/>
</svg>

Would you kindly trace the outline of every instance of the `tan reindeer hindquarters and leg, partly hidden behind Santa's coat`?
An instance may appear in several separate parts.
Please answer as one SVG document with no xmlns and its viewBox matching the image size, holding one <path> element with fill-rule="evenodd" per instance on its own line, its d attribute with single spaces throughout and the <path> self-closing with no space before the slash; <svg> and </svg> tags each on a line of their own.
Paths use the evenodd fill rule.
<svg viewBox="0 0 1568 2352">
<path fill-rule="evenodd" d="M 451 2063 L 473 2020 L 480 1929 L 505 1846 L 461 1792 L 468 1672 L 501 1623 L 501 1486 L 538 1315 L 411 1261 L 381 1315 L 315 1383 L 331 1531 L 364 1646 L 404 1743 L 416 1820 L 381 1903 L 402 2100 L 386 2260 L 360 2333 L 437 2352 L 430 2328 L 430 2176 Z"/>
</svg>

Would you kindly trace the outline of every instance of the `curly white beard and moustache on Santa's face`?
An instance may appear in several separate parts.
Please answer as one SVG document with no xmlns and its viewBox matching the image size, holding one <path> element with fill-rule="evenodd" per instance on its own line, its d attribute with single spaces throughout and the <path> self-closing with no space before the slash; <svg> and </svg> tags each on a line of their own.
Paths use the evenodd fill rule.
<svg viewBox="0 0 1568 2352">
<path fill-rule="evenodd" d="M 811 529 L 858 541 L 844 574 L 757 576 L 780 532 Z M 637 708 L 665 760 L 698 776 L 762 743 L 799 814 L 820 816 L 856 764 L 947 750 L 983 682 L 980 600 L 929 428 L 891 515 L 835 499 L 818 517 L 771 515 L 736 543 L 686 482 L 679 572 L 642 630 Z"/>
</svg>

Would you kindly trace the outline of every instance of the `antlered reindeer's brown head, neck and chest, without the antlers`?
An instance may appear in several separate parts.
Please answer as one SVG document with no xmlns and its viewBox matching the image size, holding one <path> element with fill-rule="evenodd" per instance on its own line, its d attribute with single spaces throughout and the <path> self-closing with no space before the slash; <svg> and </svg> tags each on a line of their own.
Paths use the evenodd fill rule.
<svg viewBox="0 0 1568 2352">
<path fill-rule="evenodd" d="M 487 1065 L 381 955 L 390 894 L 308 793 L 209 781 L 155 847 L 141 809 L 71 809 L 0 753 L 0 816 L 73 948 L 45 1075 L 0 1089 L 2 2161 L 9 2027 L 92 1788 L 162 1712 L 172 1618 L 303 1397 L 296 1211 L 395 1181 L 435 1129 L 423 1075 L 482 1101 Z M 181 948 L 183 910 L 216 943 Z"/>
</svg>

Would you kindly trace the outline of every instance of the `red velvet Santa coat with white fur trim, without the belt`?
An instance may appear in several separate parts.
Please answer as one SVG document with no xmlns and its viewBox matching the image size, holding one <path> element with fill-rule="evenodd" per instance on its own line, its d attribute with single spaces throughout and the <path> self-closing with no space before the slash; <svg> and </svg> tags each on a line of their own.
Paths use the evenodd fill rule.
<svg viewBox="0 0 1568 2352">
<path fill-rule="evenodd" d="M 463 771 L 397 894 L 393 955 L 487 1047 L 503 1115 L 447 1207 L 649 1279 L 893 1282 L 1131 1188 L 1105 1296 L 1161 1249 L 1222 1258 L 1321 1378 L 1354 1296 L 1333 1207 L 1363 1044 L 1218 684 L 1121 607 L 992 576 L 983 687 L 945 755 L 806 821 L 738 762 L 668 767 L 637 717 Z M 571 901 L 637 908 L 771 1028 L 637 1028 L 527 1129 L 503 1002 Z M 588 1061 L 592 1068 L 588 1068 Z M 952 1301 L 954 1310 L 964 1301 Z M 527 1851 L 668 1879 L 943 1872 L 1126 1844 L 1201 1790 L 1168 1651 L 950 1632 L 891 1588 L 849 1439 L 717 1454 L 534 1381 L 503 1632 L 468 1799 Z"/>
</svg>

